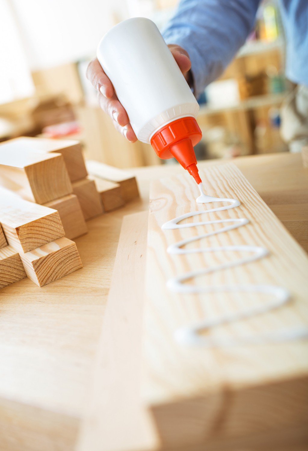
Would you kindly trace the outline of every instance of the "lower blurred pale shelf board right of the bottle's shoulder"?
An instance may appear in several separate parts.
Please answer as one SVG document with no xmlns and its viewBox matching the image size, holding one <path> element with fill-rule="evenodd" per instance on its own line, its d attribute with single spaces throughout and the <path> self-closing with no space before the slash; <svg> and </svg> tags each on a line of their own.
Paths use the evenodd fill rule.
<svg viewBox="0 0 308 451">
<path fill-rule="evenodd" d="M 266 94 L 264 96 L 255 96 L 239 101 L 238 103 L 225 106 L 202 105 L 199 109 L 199 115 L 210 115 L 223 113 L 224 111 L 254 110 L 263 106 L 279 105 L 287 97 L 289 92 L 279 94 Z"/>
</svg>

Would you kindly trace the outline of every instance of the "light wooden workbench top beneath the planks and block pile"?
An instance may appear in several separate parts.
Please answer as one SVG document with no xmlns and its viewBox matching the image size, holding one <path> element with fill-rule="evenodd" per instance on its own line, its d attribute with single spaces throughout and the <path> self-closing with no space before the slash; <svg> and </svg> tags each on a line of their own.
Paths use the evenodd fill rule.
<svg viewBox="0 0 308 451">
<path fill-rule="evenodd" d="M 234 162 L 308 250 L 308 169 L 301 156 L 249 156 Z M 134 170 L 141 199 L 88 222 L 89 233 L 76 240 L 80 271 L 43 288 L 24 279 L 0 290 L 1 450 L 74 449 L 122 217 L 148 208 L 152 179 L 181 170 L 170 165 Z"/>
</svg>

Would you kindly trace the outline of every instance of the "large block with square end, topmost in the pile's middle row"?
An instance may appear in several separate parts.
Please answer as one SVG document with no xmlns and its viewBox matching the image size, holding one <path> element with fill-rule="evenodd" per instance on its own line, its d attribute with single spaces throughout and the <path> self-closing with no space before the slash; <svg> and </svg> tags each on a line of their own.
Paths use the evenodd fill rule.
<svg viewBox="0 0 308 451">
<path fill-rule="evenodd" d="M 63 156 L 59 153 L 8 153 L 0 144 L 0 183 L 11 189 L 5 179 L 16 184 L 14 191 L 24 199 L 46 203 L 72 193 Z"/>
</svg>

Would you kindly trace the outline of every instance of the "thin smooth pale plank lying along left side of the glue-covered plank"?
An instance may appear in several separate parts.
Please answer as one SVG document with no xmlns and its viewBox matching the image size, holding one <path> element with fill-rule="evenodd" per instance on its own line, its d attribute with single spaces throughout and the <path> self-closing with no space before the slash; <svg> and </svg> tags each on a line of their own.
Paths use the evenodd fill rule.
<svg viewBox="0 0 308 451">
<path fill-rule="evenodd" d="M 135 450 L 154 435 L 139 393 L 148 216 L 123 218 L 78 451 Z"/>
</svg>

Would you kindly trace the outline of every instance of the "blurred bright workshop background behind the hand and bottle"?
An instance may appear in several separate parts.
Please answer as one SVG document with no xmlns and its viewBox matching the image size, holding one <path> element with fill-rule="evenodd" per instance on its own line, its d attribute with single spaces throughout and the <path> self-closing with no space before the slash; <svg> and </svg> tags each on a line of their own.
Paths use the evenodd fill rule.
<svg viewBox="0 0 308 451">
<path fill-rule="evenodd" d="M 143 16 L 162 30 L 176 6 L 177 0 L 0 0 L 0 141 L 79 139 L 87 158 L 113 166 L 166 163 L 150 145 L 131 144 L 113 128 L 85 73 L 113 25 Z M 284 60 L 276 1 L 263 1 L 254 32 L 198 99 L 198 159 L 288 151 L 279 133 L 279 107 L 292 88 Z"/>
</svg>

